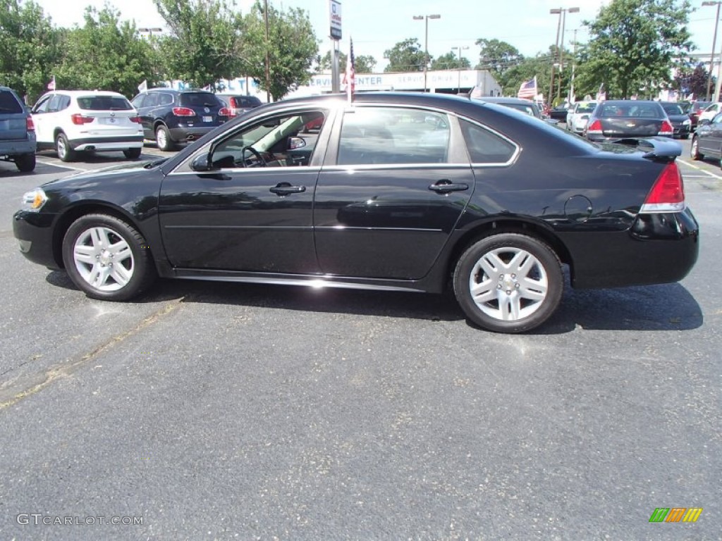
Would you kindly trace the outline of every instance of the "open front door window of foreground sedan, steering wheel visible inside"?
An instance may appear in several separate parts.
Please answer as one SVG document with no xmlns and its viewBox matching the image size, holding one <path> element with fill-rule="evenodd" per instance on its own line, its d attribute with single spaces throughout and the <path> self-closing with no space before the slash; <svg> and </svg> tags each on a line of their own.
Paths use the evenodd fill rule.
<svg viewBox="0 0 722 541">
<path fill-rule="evenodd" d="M 307 110 L 284 113 L 244 126 L 214 146 L 214 168 L 309 165 L 326 115 Z"/>
</svg>

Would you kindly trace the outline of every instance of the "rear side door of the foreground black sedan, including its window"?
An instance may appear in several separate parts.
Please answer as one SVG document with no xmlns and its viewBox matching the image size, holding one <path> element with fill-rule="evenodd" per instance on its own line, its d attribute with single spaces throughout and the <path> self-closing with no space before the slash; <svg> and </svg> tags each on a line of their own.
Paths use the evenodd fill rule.
<svg viewBox="0 0 722 541">
<path fill-rule="evenodd" d="M 432 268 L 474 191 L 456 118 L 356 105 L 331 137 L 314 202 L 321 272 L 417 279 Z"/>
</svg>

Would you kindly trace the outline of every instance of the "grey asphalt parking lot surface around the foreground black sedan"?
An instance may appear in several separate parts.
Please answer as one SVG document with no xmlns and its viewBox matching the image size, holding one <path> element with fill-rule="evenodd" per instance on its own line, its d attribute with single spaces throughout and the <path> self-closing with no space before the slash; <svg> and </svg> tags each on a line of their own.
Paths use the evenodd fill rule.
<svg viewBox="0 0 722 541">
<path fill-rule="evenodd" d="M 87 299 L 19 255 L 12 213 L 122 154 L 0 162 L 0 539 L 721 539 L 722 171 L 682 144 L 690 276 L 567 288 L 516 336 L 451 295 Z"/>
</svg>

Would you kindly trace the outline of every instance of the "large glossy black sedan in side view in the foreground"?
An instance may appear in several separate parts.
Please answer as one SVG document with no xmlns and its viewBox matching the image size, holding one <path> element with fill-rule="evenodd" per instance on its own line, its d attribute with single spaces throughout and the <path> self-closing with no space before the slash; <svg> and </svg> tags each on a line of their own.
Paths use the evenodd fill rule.
<svg viewBox="0 0 722 541">
<path fill-rule="evenodd" d="M 472 322 L 519 333 L 557 309 L 562 264 L 580 289 L 679 281 L 695 264 L 679 145 L 641 144 L 597 146 L 442 94 L 284 100 L 174 157 L 36 188 L 14 235 L 95 299 L 131 299 L 157 276 L 451 282 Z"/>
</svg>

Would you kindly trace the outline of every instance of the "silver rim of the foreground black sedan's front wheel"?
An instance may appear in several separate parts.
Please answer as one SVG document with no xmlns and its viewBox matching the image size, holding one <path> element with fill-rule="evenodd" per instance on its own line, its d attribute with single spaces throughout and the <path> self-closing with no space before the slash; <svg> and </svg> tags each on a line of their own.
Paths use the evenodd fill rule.
<svg viewBox="0 0 722 541">
<path fill-rule="evenodd" d="M 80 234 L 73 260 L 82 279 L 98 291 L 118 291 L 133 278 L 135 269 L 131 247 L 109 227 L 91 227 Z"/>
</svg>

